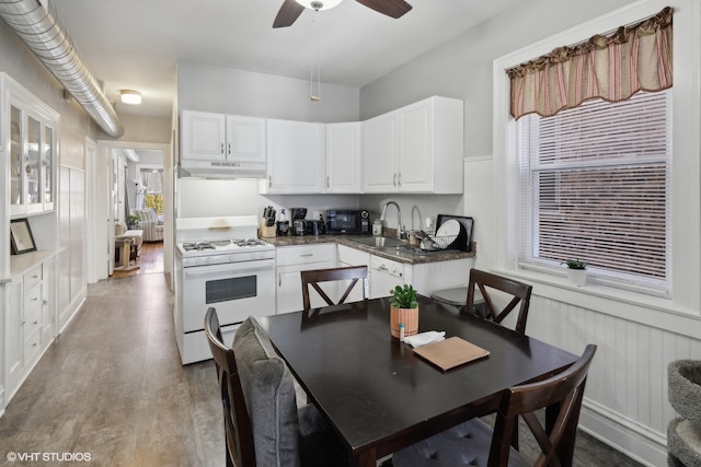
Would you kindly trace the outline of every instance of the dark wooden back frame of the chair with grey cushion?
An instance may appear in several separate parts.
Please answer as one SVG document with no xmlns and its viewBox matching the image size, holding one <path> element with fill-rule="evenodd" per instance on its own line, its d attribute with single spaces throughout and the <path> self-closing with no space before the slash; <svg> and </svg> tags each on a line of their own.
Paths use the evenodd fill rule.
<svg viewBox="0 0 701 467">
<path fill-rule="evenodd" d="M 205 314 L 205 334 L 215 359 L 217 380 L 223 406 L 225 441 L 228 467 L 255 466 L 251 419 L 245 407 L 239 369 L 233 350 L 223 345 L 219 317 L 214 307 Z"/>
</svg>

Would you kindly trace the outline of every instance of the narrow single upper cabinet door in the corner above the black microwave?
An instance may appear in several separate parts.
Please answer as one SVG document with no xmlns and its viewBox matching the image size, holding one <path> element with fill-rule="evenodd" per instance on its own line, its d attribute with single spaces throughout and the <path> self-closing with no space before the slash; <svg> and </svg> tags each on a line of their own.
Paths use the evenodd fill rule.
<svg viewBox="0 0 701 467">
<path fill-rule="evenodd" d="M 326 192 L 360 192 L 360 122 L 326 125 Z"/>
</svg>

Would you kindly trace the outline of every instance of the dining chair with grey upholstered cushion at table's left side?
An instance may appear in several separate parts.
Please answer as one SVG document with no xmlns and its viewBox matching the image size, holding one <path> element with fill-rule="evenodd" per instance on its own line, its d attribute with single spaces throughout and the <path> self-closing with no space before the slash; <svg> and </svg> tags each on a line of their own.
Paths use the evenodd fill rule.
<svg viewBox="0 0 701 467">
<path fill-rule="evenodd" d="M 341 442 L 315 406 L 298 408 L 292 374 L 254 318 L 239 325 L 229 348 L 217 311 L 209 307 L 205 334 L 221 393 L 227 466 L 345 463 Z"/>
</svg>

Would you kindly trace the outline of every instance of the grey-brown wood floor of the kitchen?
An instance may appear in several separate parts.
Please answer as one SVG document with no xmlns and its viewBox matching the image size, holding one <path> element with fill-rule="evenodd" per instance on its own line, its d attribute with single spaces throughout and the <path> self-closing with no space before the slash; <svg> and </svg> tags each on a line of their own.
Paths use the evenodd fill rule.
<svg viewBox="0 0 701 467">
<path fill-rule="evenodd" d="M 41 466 L 225 465 L 214 364 L 181 364 L 169 281 L 145 270 L 89 285 L 80 313 L 0 418 L 0 458 L 36 455 L 13 465 Z M 90 462 L 43 462 L 51 453 Z M 639 465 L 584 433 L 575 457 L 576 466 Z"/>
</svg>

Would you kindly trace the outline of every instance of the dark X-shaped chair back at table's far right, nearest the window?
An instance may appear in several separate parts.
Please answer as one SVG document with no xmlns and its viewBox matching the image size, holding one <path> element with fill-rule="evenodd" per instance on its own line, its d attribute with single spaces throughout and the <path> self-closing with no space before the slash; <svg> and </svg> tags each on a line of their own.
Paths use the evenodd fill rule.
<svg viewBox="0 0 701 467">
<path fill-rule="evenodd" d="M 501 324 L 502 320 L 504 320 L 504 318 L 516 308 L 516 305 L 520 303 L 515 330 L 524 335 L 526 334 L 526 319 L 528 318 L 528 306 L 530 304 L 530 294 L 533 289 L 532 285 L 473 268 L 470 270 L 466 310 L 473 310 L 474 307 L 473 302 L 475 287 L 479 288 L 482 293 L 482 297 L 484 299 L 484 306 L 489 314 L 487 318 L 495 323 Z M 514 297 L 504 308 L 499 310 L 494 305 L 494 301 L 492 300 L 493 296 L 490 294 L 490 289 L 499 290 L 514 295 Z"/>
</svg>

